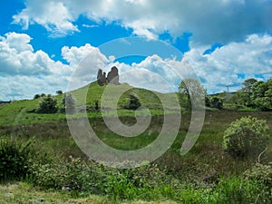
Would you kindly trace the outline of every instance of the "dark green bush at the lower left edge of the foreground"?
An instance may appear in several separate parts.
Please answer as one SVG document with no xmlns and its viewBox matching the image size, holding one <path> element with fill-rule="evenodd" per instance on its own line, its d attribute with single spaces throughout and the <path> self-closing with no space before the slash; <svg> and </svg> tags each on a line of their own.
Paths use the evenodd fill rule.
<svg viewBox="0 0 272 204">
<path fill-rule="evenodd" d="M 0 180 L 20 180 L 28 171 L 32 142 L 0 141 Z"/>
</svg>

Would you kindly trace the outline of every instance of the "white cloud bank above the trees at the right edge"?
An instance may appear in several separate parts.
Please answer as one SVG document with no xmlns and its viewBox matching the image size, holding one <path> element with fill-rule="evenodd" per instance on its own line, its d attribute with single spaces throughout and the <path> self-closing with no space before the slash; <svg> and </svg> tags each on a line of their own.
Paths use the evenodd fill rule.
<svg viewBox="0 0 272 204">
<path fill-rule="evenodd" d="M 246 41 L 230 43 L 213 53 L 203 55 L 207 47 L 192 48 L 185 53 L 183 60 L 188 61 L 196 73 L 204 79 L 209 91 L 226 90 L 227 85 L 238 85 L 245 78 L 263 75 L 267 80 L 272 77 L 272 36 L 248 35 Z M 239 88 L 233 87 L 232 91 Z"/>
</svg>

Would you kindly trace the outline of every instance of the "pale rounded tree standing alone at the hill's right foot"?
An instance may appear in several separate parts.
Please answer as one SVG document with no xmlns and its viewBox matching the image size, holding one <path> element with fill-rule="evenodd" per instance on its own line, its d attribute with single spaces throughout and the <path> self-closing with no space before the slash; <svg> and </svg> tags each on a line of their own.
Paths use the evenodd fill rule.
<svg viewBox="0 0 272 204">
<path fill-rule="evenodd" d="M 196 79 L 187 78 L 182 80 L 179 86 L 179 92 L 181 96 L 184 95 L 187 97 L 187 105 L 189 108 L 191 104 L 195 104 L 195 108 L 201 108 L 202 103 L 203 105 L 205 104 L 206 90 Z"/>
</svg>

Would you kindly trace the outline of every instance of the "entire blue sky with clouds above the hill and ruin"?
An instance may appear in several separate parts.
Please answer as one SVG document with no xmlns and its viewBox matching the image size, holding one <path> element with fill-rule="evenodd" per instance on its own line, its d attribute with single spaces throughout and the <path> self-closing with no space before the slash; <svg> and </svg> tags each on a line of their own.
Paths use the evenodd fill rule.
<svg viewBox="0 0 272 204">
<path fill-rule="evenodd" d="M 210 93 L 227 91 L 226 86 L 236 91 L 247 78 L 272 76 L 269 0 L 0 4 L 0 101 L 66 91 L 86 57 L 86 67 L 73 76 L 79 87 L 94 80 L 97 69 L 108 71 L 113 65 L 121 82 L 160 92 L 175 91 L 189 72 Z M 120 38 L 139 38 L 133 45 L 139 54 L 118 58 L 120 49 L 132 49 L 108 47 Z"/>
</svg>

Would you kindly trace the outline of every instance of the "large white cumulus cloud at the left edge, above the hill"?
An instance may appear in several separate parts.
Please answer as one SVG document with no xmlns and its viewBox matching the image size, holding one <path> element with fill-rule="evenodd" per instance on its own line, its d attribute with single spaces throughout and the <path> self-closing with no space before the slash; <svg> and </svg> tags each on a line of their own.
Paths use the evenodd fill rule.
<svg viewBox="0 0 272 204">
<path fill-rule="evenodd" d="M 35 93 L 53 93 L 66 87 L 73 66 L 53 61 L 36 51 L 27 34 L 0 37 L 0 100 L 32 98 Z"/>
</svg>

